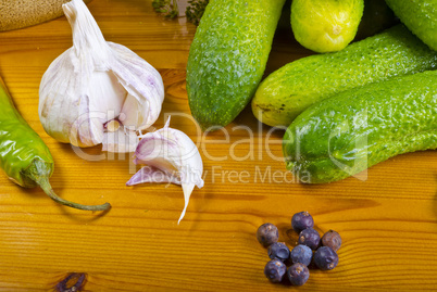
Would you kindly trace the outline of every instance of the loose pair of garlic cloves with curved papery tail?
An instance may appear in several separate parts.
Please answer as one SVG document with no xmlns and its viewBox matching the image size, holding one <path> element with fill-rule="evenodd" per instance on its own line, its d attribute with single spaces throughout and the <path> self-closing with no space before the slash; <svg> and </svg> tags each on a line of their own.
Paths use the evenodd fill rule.
<svg viewBox="0 0 437 292">
<path fill-rule="evenodd" d="M 185 206 L 179 220 L 184 218 L 195 186 L 203 187 L 203 163 L 199 150 L 183 131 L 168 127 L 148 132 L 141 137 L 135 151 L 135 164 L 146 164 L 127 182 L 172 182 L 182 185 Z"/>
</svg>

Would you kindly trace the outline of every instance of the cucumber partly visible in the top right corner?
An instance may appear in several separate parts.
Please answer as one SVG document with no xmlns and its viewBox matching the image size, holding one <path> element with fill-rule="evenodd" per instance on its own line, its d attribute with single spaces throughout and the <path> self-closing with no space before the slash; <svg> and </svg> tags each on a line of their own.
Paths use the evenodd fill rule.
<svg viewBox="0 0 437 292">
<path fill-rule="evenodd" d="M 437 0 L 386 0 L 386 3 L 414 35 L 437 51 Z"/>
</svg>

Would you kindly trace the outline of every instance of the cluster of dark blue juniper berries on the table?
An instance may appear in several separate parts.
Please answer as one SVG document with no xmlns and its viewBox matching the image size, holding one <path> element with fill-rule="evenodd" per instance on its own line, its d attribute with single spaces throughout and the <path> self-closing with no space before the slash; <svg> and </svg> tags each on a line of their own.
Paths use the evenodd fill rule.
<svg viewBox="0 0 437 292">
<path fill-rule="evenodd" d="M 310 278 L 309 266 L 321 270 L 329 270 L 337 266 L 337 251 L 341 245 L 338 232 L 329 230 L 321 238 L 313 228 L 314 220 L 308 212 L 296 213 L 291 218 L 291 227 L 299 233 L 298 245 L 291 251 L 284 242 L 278 242 L 279 232 L 276 226 L 266 223 L 258 228 L 258 241 L 269 247 L 271 261 L 264 268 L 269 280 L 282 282 L 287 274 L 292 285 L 302 285 Z"/>
</svg>

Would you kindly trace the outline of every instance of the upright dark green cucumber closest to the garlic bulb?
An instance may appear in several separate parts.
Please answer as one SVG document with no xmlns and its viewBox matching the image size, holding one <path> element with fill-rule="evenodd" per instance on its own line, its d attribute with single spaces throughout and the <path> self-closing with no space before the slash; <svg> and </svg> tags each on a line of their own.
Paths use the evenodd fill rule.
<svg viewBox="0 0 437 292">
<path fill-rule="evenodd" d="M 245 109 L 265 69 L 285 0 L 212 0 L 187 64 L 192 116 L 202 129 L 223 127 Z"/>
</svg>

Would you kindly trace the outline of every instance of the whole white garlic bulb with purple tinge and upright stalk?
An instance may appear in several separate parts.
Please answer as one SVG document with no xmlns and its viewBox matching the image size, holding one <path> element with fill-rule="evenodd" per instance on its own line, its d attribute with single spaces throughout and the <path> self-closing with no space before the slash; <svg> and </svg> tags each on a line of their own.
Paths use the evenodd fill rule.
<svg viewBox="0 0 437 292">
<path fill-rule="evenodd" d="M 135 151 L 136 131 L 150 127 L 161 112 L 161 75 L 126 47 L 105 41 L 83 0 L 62 8 L 73 47 L 42 76 L 38 112 L 45 130 L 77 147 Z"/>
</svg>

